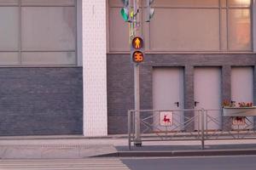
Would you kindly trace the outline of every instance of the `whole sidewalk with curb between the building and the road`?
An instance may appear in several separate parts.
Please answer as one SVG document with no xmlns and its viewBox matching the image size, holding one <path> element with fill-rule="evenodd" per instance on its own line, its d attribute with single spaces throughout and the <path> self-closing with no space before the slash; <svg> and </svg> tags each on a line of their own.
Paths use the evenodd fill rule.
<svg viewBox="0 0 256 170">
<path fill-rule="evenodd" d="M 216 156 L 256 155 L 256 139 L 143 142 L 128 149 L 125 135 L 1 137 L 1 159 L 85 158 L 90 156 Z"/>
</svg>

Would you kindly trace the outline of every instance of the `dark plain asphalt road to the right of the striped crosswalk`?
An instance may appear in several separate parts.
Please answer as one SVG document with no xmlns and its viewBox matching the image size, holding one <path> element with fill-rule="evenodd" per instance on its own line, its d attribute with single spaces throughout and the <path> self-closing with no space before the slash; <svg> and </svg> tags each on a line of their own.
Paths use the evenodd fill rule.
<svg viewBox="0 0 256 170">
<path fill-rule="evenodd" d="M 131 170 L 255 170 L 256 156 L 122 158 Z"/>
</svg>

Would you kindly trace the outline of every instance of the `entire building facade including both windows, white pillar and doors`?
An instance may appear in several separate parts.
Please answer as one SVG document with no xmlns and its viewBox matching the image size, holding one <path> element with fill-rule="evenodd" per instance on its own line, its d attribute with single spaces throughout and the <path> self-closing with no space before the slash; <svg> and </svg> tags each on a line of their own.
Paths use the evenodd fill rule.
<svg viewBox="0 0 256 170">
<path fill-rule="evenodd" d="M 122 6 L 0 1 L 1 136 L 126 133 L 134 94 Z M 155 0 L 153 8 L 140 30 L 141 109 L 256 103 L 254 0 Z"/>
</svg>

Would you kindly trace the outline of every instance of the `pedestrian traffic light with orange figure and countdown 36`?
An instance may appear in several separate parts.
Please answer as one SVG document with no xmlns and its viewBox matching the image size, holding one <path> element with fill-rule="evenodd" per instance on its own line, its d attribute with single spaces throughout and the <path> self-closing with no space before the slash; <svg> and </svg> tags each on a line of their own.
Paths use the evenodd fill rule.
<svg viewBox="0 0 256 170">
<path fill-rule="evenodd" d="M 142 37 L 134 37 L 131 42 L 131 59 L 134 63 L 144 60 L 144 42 Z"/>
</svg>

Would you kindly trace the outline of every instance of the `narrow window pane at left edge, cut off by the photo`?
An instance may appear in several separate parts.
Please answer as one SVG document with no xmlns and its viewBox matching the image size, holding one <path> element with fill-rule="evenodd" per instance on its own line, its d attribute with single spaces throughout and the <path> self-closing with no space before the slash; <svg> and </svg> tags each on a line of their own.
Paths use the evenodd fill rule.
<svg viewBox="0 0 256 170">
<path fill-rule="evenodd" d="M 0 7 L 0 51 L 19 50 L 19 8 Z"/>
</svg>

